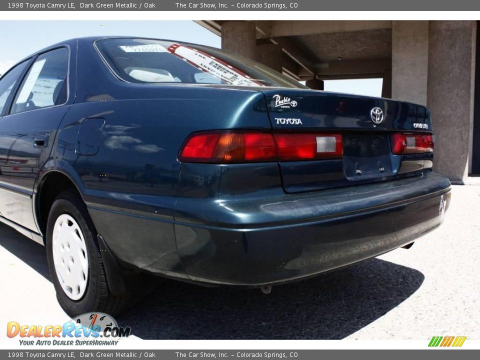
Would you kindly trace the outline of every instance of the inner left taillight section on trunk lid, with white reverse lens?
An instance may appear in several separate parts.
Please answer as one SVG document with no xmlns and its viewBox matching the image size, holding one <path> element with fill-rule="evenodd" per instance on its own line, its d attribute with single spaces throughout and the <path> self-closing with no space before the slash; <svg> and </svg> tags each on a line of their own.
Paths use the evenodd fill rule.
<svg viewBox="0 0 480 360">
<path fill-rule="evenodd" d="M 280 161 L 340 158 L 343 154 L 339 133 L 276 133 Z"/>
</svg>

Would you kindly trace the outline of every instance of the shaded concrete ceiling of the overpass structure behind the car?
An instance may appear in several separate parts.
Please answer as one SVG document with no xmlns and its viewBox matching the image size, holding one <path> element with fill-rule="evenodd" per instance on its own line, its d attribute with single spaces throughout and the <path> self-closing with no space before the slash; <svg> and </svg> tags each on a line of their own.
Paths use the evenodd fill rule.
<svg viewBox="0 0 480 360">
<path fill-rule="evenodd" d="M 225 21 L 197 22 L 221 36 Z M 391 21 L 252 22 L 257 43 L 279 44 L 283 71 L 296 79 L 381 77 L 391 69 Z"/>
</svg>

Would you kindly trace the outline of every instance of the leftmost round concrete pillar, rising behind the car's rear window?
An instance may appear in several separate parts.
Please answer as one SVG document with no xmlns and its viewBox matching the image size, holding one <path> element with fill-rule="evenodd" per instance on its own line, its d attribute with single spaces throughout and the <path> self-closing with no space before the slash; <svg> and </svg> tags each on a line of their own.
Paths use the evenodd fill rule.
<svg viewBox="0 0 480 360">
<path fill-rule="evenodd" d="M 221 48 L 256 58 L 256 29 L 250 21 L 226 21 L 221 24 Z"/>
</svg>

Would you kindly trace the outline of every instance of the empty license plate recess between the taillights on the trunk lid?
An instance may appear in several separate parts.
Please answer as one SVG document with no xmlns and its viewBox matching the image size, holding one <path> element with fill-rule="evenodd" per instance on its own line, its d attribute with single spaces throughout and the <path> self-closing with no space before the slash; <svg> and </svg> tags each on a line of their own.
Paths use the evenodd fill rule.
<svg viewBox="0 0 480 360">
<path fill-rule="evenodd" d="M 343 170 L 349 180 L 391 175 L 390 145 L 386 133 L 343 133 Z"/>
</svg>

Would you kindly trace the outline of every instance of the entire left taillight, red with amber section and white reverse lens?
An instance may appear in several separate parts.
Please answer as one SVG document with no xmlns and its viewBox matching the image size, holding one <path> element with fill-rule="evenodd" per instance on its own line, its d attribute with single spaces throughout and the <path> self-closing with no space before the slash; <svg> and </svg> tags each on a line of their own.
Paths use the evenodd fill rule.
<svg viewBox="0 0 480 360">
<path fill-rule="evenodd" d="M 341 158 L 339 133 L 212 131 L 190 135 L 178 159 L 238 163 Z"/>
</svg>

